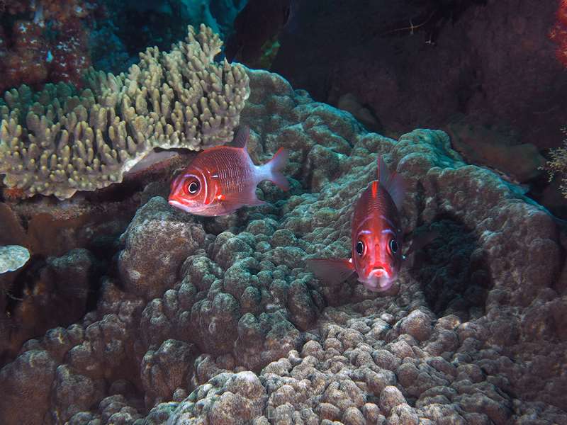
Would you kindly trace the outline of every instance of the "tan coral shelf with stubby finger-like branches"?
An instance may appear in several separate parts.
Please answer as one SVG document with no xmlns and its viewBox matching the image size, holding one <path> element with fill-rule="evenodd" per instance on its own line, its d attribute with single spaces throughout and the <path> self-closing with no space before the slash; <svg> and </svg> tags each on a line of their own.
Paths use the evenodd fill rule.
<svg viewBox="0 0 567 425">
<path fill-rule="evenodd" d="M 240 65 L 213 62 L 222 41 L 189 26 L 169 53 L 150 47 L 128 74 L 91 69 L 89 89 L 48 84 L 0 103 L 0 174 L 26 196 L 94 191 L 122 181 L 153 147 L 199 150 L 232 139 L 249 96 Z M 0 101 L 1 102 L 1 101 Z"/>
</svg>

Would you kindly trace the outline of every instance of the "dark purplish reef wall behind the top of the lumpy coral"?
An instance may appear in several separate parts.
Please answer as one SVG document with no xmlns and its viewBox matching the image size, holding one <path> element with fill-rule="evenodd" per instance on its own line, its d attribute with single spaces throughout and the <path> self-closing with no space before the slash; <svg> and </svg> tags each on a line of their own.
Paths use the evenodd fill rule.
<svg viewBox="0 0 567 425">
<path fill-rule="evenodd" d="M 353 94 L 388 134 L 444 128 L 461 113 L 540 149 L 561 145 L 567 84 L 549 39 L 558 1 L 296 3 L 271 71 L 315 99 Z"/>
</svg>

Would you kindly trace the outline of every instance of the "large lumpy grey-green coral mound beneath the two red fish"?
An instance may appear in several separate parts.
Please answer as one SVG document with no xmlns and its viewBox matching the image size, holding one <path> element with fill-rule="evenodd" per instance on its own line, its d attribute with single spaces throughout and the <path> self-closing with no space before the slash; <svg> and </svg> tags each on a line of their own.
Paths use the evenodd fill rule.
<svg viewBox="0 0 567 425">
<path fill-rule="evenodd" d="M 567 421 L 551 216 L 462 162 L 444 132 L 382 137 L 276 74 L 247 74 L 252 159 L 289 149 L 291 192 L 261 183 L 266 205 L 213 220 L 151 198 L 96 310 L 0 370 L 1 423 Z M 304 264 L 349 254 L 377 154 L 408 181 L 405 231 L 442 234 L 384 296 Z"/>
</svg>

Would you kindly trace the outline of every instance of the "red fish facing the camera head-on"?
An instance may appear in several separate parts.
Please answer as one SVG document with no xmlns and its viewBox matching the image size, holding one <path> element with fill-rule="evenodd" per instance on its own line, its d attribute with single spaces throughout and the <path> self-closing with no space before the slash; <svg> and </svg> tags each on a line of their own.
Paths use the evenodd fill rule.
<svg viewBox="0 0 567 425">
<path fill-rule="evenodd" d="M 382 157 L 378 157 L 378 180 L 366 188 L 354 206 L 352 257 L 308 259 L 315 276 L 339 283 L 357 273 L 358 280 L 369 290 L 391 288 L 404 259 L 399 212 L 404 194 L 402 177 L 391 174 Z"/>
</svg>

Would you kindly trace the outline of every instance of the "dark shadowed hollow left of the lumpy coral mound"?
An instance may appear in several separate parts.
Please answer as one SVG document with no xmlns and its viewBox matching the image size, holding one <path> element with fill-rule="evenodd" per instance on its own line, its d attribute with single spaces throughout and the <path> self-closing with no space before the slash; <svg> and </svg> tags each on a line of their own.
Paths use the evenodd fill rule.
<svg viewBox="0 0 567 425">
<path fill-rule="evenodd" d="M 78 259 L 74 257 L 72 249 L 52 256 L 53 261 L 34 254 L 20 270 L 0 276 L 0 367 L 11 361 L 28 339 L 43 336 L 55 327 L 67 327 L 96 309 L 103 275 L 113 274 L 111 260 L 118 252 L 118 237 L 126 224 L 83 240 L 88 260 L 84 251 Z M 74 261 L 86 267 L 77 275 L 79 280 L 75 276 L 65 278 L 73 271 Z"/>
</svg>

